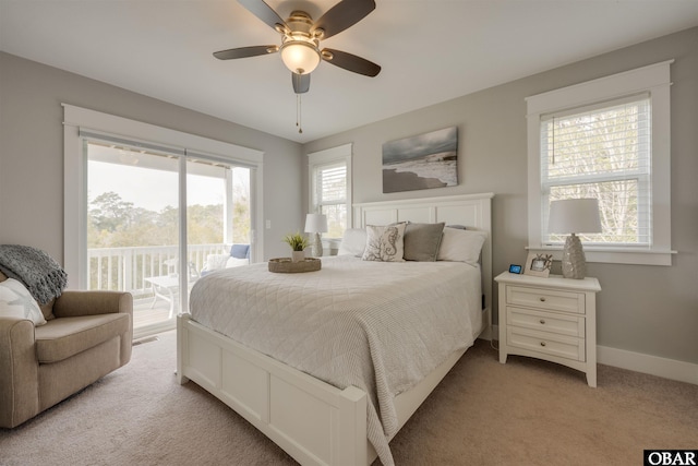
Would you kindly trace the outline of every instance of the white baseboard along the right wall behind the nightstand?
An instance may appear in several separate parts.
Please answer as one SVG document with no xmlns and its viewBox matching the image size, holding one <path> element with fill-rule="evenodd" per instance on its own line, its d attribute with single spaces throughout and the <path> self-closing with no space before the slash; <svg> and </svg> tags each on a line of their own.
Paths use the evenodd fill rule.
<svg viewBox="0 0 698 466">
<path fill-rule="evenodd" d="M 500 338 L 500 326 L 492 325 L 492 335 Z M 677 380 L 698 385 L 698 365 L 643 355 L 625 349 L 597 346 L 597 361 L 600 365 L 642 372 L 664 379 Z"/>
</svg>

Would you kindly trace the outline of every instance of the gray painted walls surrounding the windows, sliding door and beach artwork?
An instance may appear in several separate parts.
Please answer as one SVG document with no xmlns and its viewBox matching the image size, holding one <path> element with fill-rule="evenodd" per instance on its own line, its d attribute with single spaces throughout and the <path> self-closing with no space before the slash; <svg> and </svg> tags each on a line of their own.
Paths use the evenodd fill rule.
<svg viewBox="0 0 698 466">
<path fill-rule="evenodd" d="M 526 258 L 525 97 L 646 64 L 672 65 L 671 267 L 589 264 L 599 295 L 602 346 L 698 363 L 698 28 L 616 50 L 436 106 L 314 141 L 296 143 L 119 87 L 0 52 L 0 242 L 36 246 L 62 261 L 61 103 L 265 152 L 264 259 L 284 255 L 280 238 L 302 228 L 312 153 L 353 143 L 353 201 L 493 191 L 494 272 Z M 387 141 L 458 126 L 459 186 L 382 194 Z M 293 194 L 289 198 L 290 193 Z M 495 302 L 496 304 L 496 302 Z"/>
</svg>

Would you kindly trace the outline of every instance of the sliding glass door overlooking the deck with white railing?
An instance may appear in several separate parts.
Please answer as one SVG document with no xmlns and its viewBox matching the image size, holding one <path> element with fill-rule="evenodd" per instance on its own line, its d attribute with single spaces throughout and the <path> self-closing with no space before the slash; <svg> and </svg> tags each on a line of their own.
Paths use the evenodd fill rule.
<svg viewBox="0 0 698 466">
<path fill-rule="evenodd" d="M 98 139 L 84 152 L 87 286 L 133 295 L 134 335 L 172 328 L 203 274 L 249 263 L 227 258 L 252 251 L 254 170 Z"/>
</svg>

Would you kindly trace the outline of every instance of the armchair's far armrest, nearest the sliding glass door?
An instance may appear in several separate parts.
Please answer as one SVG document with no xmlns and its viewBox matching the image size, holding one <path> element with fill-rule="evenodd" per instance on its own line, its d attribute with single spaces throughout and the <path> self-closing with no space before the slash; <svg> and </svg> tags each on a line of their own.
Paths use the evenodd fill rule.
<svg viewBox="0 0 698 466">
<path fill-rule="evenodd" d="M 133 296 L 122 291 L 68 290 L 53 303 L 57 318 L 110 313 L 128 313 L 133 320 Z"/>
</svg>

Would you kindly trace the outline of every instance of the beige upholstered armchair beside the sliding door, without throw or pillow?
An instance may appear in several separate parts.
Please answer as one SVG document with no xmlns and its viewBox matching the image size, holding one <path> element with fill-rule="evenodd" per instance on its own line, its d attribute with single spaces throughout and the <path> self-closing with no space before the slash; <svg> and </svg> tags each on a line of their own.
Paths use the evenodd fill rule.
<svg viewBox="0 0 698 466">
<path fill-rule="evenodd" d="M 0 285 L 7 276 L 0 273 Z M 128 292 L 63 291 L 41 306 L 45 324 L 0 316 L 0 427 L 13 428 L 131 359 Z"/>
</svg>

